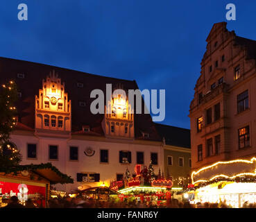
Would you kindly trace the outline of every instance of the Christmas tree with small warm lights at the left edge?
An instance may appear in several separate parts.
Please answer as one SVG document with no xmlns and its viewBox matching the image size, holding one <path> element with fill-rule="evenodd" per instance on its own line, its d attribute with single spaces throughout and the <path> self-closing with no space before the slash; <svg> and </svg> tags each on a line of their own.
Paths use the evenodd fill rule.
<svg viewBox="0 0 256 222">
<path fill-rule="evenodd" d="M 10 133 L 16 126 L 17 87 L 13 81 L 0 88 L 0 169 L 8 169 L 22 161 L 22 155 L 15 144 L 10 142 Z"/>
</svg>

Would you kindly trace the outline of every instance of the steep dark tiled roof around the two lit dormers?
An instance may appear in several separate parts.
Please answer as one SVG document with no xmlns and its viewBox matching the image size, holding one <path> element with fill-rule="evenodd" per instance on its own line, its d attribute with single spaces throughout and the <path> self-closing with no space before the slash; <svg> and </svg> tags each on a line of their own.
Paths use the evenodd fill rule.
<svg viewBox="0 0 256 222">
<path fill-rule="evenodd" d="M 61 78 L 62 83 L 65 83 L 65 92 L 68 93 L 68 99 L 71 99 L 71 130 L 73 133 L 79 132 L 83 126 L 88 125 L 92 129 L 92 133 L 103 135 L 101 128 L 103 114 L 94 115 L 89 109 L 89 105 L 94 101 L 89 97 L 93 89 L 101 89 L 105 93 L 107 83 L 112 83 L 112 88 L 120 83 L 123 89 L 138 88 L 135 80 L 98 76 L 51 65 L 0 57 L 0 83 L 6 83 L 6 80 L 15 80 L 18 91 L 22 92 L 22 97 L 17 102 L 19 122 L 22 123 L 19 126 L 35 127 L 35 95 L 38 95 L 39 89 L 42 89 L 42 80 L 53 70 Z M 17 78 L 17 74 L 25 74 L 25 78 Z M 77 83 L 83 83 L 83 88 L 77 87 Z M 80 101 L 85 102 L 85 107 L 80 107 Z M 148 132 L 148 130 L 151 139 L 160 140 L 151 115 L 135 114 L 135 137 L 141 137 L 142 132 Z"/>
</svg>

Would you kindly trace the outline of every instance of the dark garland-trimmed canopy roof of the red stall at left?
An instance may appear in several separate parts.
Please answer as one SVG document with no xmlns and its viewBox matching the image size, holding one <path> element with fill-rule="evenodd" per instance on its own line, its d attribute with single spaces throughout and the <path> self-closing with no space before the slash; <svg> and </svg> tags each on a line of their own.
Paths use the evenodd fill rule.
<svg viewBox="0 0 256 222">
<path fill-rule="evenodd" d="M 32 171 L 33 173 L 36 173 L 42 178 L 49 180 L 51 184 L 74 183 L 74 180 L 70 176 L 67 176 L 64 173 L 61 173 L 51 163 L 19 165 L 19 166 L 11 167 L 8 169 L 0 169 L 0 171 L 6 174 L 8 173 L 17 174 L 18 172 L 22 172 L 22 171 Z"/>
</svg>

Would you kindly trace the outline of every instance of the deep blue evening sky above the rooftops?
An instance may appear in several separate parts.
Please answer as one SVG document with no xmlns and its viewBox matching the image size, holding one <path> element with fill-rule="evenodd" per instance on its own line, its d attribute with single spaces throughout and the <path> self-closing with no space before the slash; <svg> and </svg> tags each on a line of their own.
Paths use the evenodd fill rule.
<svg viewBox="0 0 256 222">
<path fill-rule="evenodd" d="M 17 19 L 26 3 L 28 21 Z M 234 3 L 237 20 L 226 21 Z M 166 89 L 162 123 L 190 128 L 189 103 L 216 22 L 256 40 L 256 1 L 1 0 L 0 56 Z"/>
</svg>

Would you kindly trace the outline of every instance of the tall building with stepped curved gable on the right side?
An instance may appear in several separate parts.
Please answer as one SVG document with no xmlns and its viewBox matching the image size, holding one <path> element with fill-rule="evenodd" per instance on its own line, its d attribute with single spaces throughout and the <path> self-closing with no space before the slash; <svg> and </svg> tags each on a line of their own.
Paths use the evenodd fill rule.
<svg viewBox="0 0 256 222">
<path fill-rule="evenodd" d="M 192 169 L 256 154 L 256 42 L 214 24 L 191 101 Z"/>
</svg>

